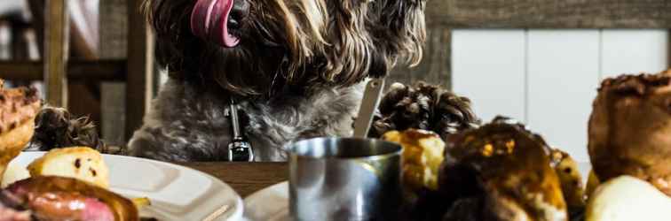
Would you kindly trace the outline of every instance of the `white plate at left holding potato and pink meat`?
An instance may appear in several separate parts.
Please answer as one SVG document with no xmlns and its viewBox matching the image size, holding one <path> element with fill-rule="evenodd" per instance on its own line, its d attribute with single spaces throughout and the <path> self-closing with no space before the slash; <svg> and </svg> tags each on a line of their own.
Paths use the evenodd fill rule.
<svg viewBox="0 0 671 221">
<path fill-rule="evenodd" d="M 24 152 L 14 166 L 27 166 L 44 152 Z M 233 188 L 201 171 L 130 156 L 103 155 L 110 189 L 123 196 L 148 197 L 142 217 L 161 221 L 240 220 L 244 210 Z"/>
</svg>

